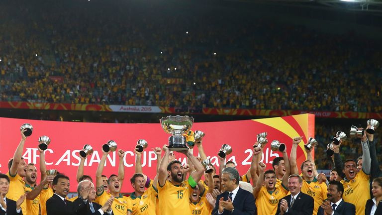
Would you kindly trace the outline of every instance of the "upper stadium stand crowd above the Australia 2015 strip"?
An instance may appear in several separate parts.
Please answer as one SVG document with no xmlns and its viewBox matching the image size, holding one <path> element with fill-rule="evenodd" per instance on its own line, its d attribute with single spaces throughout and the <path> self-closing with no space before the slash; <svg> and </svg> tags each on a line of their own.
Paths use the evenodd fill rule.
<svg viewBox="0 0 382 215">
<path fill-rule="evenodd" d="M 382 111 L 379 43 L 355 35 L 156 8 L 13 10 L 2 101 Z"/>
</svg>

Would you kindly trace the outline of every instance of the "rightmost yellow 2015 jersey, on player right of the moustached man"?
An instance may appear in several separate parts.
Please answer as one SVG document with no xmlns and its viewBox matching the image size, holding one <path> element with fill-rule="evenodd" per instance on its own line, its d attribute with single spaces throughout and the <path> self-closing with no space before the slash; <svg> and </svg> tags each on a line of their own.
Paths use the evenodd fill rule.
<svg viewBox="0 0 382 215">
<path fill-rule="evenodd" d="M 369 180 L 370 177 L 361 170 L 353 180 L 341 181 L 344 185 L 344 195 L 342 199 L 356 206 L 356 215 L 365 214 L 366 202 L 370 199 Z"/>
</svg>

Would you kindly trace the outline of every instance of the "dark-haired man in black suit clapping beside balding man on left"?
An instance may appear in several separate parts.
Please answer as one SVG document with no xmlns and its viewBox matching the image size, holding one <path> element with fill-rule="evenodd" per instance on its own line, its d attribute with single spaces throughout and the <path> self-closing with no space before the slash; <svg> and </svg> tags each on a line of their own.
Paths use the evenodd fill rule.
<svg viewBox="0 0 382 215">
<path fill-rule="evenodd" d="M 74 202 L 66 200 L 69 193 L 69 177 L 65 175 L 56 175 L 53 179 L 54 194 L 46 201 L 47 215 L 76 215 L 79 210 L 86 207 L 91 187 L 82 190 L 78 199 Z"/>
</svg>

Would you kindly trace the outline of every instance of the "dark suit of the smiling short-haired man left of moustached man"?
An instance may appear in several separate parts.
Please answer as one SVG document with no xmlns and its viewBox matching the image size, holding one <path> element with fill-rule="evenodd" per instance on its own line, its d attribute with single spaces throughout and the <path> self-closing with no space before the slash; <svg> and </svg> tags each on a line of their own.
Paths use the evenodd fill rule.
<svg viewBox="0 0 382 215">
<path fill-rule="evenodd" d="M 283 198 L 288 203 L 288 212 L 285 215 L 312 215 L 314 209 L 314 200 L 311 196 L 306 195 L 300 192 L 297 196 L 294 197 L 293 206 L 290 208 L 290 201 L 292 197 L 287 195 Z M 281 200 L 279 201 L 279 205 L 277 206 L 276 215 L 280 214 L 280 205 Z"/>
</svg>

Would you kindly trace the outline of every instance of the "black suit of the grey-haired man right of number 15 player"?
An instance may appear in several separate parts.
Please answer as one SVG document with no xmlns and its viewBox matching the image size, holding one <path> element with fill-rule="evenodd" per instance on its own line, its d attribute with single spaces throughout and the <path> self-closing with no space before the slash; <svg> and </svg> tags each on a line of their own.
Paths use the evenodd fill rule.
<svg viewBox="0 0 382 215">
<path fill-rule="evenodd" d="M 219 211 L 219 200 L 222 197 L 224 198 L 224 201 L 227 201 L 228 191 L 216 197 L 216 205 L 212 211 L 212 215 L 217 215 Z M 255 199 L 253 198 L 253 195 L 246 190 L 239 188 L 232 204 L 235 208 L 233 213 L 224 210 L 222 215 L 256 215 Z"/>
</svg>

